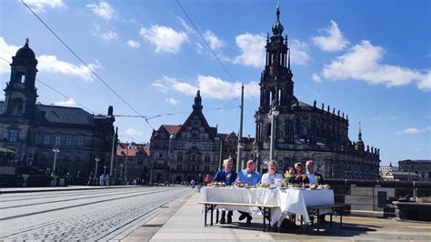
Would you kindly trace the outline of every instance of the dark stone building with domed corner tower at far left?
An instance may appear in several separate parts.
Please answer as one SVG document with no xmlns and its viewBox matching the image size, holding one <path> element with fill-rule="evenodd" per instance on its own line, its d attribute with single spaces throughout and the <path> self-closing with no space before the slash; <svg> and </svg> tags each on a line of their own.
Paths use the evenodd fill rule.
<svg viewBox="0 0 431 242">
<path fill-rule="evenodd" d="M 82 108 L 36 103 L 37 60 L 28 46 L 12 57 L 11 77 L 0 101 L 0 146 L 15 151 L 17 166 L 52 170 L 54 147 L 56 169 L 87 176 L 99 164 L 110 162 L 114 140 L 113 107 L 107 115 L 92 115 Z M 101 166 L 99 166 L 99 171 Z"/>
</svg>

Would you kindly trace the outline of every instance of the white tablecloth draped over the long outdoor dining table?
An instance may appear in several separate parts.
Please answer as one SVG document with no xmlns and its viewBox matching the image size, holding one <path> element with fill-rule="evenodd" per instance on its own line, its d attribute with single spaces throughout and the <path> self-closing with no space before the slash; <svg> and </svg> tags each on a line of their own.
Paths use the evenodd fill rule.
<svg viewBox="0 0 431 242">
<path fill-rule="evenodd" d="M 276 205 L 271 209 L 271 224 L 280 223 L 286 215 L 303 215 L 309 221 L 307 206 L 333 205 L 334 191 L 331 189 L 268 189 L 237 187 L 205 187 L 205 202 L 245 203 Z M 260 213 L 257 207 L 219 206 L 228 210 L 239 210 L 247 213 Z M 325 211 L 323 211 L 325 212 Z"/>
</svg>

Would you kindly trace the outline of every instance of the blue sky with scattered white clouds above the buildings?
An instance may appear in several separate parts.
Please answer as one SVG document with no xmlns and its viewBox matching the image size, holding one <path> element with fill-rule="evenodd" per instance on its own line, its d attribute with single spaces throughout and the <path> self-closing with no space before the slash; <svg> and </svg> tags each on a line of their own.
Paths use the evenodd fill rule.
<svg viewBox="0 0 431 242">
<path fill-rule="evenodd" d="M 82 105 L 95 114 L 114 106 L 121 141 L 147 142 L 153 128 L 183 124 L 197 88 L 209 125 L 237 132 L 241 83 L 244 136 L 255 136 L 266 33 L 276 22 L 277 2 L 25 0 L 114 94 L 21 1 L 3 0 L 0 87 L 10 78 L 6 61 L 29 37 L 38 60 L 37 101 Z M 279 4 L 295 96 L 348 115 L 352 141 L 360 122 L 366 146 L 380 148 L 381 165 L 431 159 L 431 2 Z M 156 117 L 147 123 L 120 115 Z"/>
</svg>

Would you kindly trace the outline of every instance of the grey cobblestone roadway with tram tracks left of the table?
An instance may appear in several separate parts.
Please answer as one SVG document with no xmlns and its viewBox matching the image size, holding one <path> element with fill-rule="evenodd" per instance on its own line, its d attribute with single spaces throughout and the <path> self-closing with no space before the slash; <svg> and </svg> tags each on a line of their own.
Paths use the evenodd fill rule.
<svg viewBox="0 0 431 242">
<path fill-rule="evenodd" d="M 121 239 L 190 192 L 186 187 L 133 187 L 6 194 L 0 196 L 0 239 Z"/>
</svg>

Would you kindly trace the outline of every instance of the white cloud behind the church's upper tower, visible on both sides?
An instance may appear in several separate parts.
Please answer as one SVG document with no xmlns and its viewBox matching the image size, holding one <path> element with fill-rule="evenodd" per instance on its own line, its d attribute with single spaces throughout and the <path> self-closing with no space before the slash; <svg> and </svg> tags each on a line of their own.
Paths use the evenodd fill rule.
<svg viewBox="0 0 431 242">
<path fill-rule="evenodd" d="M 308 45 L 297 39 L 290 41 L 291 63 L 306 65 L 310 56 L 306 53 Z M 266 37 L 264 35 L 252 35 L 249 33 L 236 36 L 236 45 L 241 50 L 241 55 L 233 59 L 233 63 L 244 66 L 263 68 L 266 62 Z"/>
</svg>

